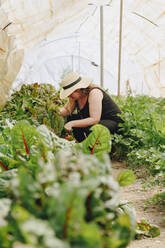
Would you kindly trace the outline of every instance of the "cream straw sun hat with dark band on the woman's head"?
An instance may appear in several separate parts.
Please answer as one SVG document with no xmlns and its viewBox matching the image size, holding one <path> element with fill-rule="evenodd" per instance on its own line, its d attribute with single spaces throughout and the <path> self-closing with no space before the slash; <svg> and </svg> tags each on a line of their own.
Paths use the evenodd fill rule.
<svg viewBox="0 0 165 248">
<path fill-rule="evenodd" d="M 87 88 L 92 81 L 92 78 L 82 78 L 76 72 L 70 72 L 61 82 L 60 98 L 64 99 L 77 89 Z"/>
</svg>

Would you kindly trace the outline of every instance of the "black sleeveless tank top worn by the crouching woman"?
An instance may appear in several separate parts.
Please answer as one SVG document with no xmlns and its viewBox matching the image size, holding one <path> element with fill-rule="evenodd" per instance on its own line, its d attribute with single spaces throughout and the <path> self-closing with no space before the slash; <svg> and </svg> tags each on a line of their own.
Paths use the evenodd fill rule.
<svg viewBox="0 0 165 248">
<path fill-rule="evenodd" d="M 121 111 L 117 104 L 112 100 L 112 98 L 101 88 L 94 87 L 93 89 L 99 89 L 103 93 L 103 99 L 102 99 L 102 113 L 101 113 L 101 120 L 113 120 L 118 123 L 123 122 L 121 117 L 118 116 L 118 114 L 121 114 Z M 90 90 L 90 91 L 91 91 Z M 85 104 L 85 106 L 82 109 L 79 109 L 78 103 L 76 103 L 78 113 L 80 114 L 81 119 L 89 117 L 89 103 L 88 99 Z"/>
</svg>

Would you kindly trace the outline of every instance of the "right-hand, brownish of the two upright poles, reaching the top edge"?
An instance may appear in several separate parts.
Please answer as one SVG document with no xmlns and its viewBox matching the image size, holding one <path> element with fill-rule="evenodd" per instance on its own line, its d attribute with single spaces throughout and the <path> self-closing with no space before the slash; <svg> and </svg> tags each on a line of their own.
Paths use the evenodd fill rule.
<svg viewBox="0 0 165 248">
<path fill-rule="evenodd" d="M 119 26 L 119 58 L 118 58 L 118 90 L 117 96 L 120 97 L 120 77 L 121 77 L 121 52 L 122 52 L 122 22 L 123 22 L 123 0 L 120 0 L 120 26 Z"/>
</svg>

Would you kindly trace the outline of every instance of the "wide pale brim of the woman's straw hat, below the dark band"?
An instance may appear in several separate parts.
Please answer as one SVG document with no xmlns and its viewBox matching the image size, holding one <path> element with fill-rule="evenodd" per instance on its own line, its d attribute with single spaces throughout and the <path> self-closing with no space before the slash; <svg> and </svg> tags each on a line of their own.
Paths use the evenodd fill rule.
<svg viewBox="0 0 165 248">
<path fill-rule="evenodd" d="M 81 89 L 81 88 L 87 88 L 91 83 L 93 79 L 92 78 L 82 78 L 80 82 L 78 82 L 76 85 L 74 85 L 71 88 L 68 88 L 66 90 L 62 89 L 60 92 L 60 98 L 64 99 L 71 95 L 75 90 Z"/>
</svg>

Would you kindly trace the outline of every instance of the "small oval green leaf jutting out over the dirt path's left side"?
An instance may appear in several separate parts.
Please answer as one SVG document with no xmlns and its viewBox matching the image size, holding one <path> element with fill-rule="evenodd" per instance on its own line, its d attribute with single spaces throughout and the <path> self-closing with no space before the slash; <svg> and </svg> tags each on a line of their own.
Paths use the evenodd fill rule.
<svg viewBox="0 0 165 248">
<path fill-rule="evenodd" d="M 136 176 L 131 170 L 124 170 L 120 172 L 120 174 L 117 177 L 117 181 L 120 184 L 120 186 L 127 186 L 133 183 L 135 180 L 136 180 Z"/>
</svg>

